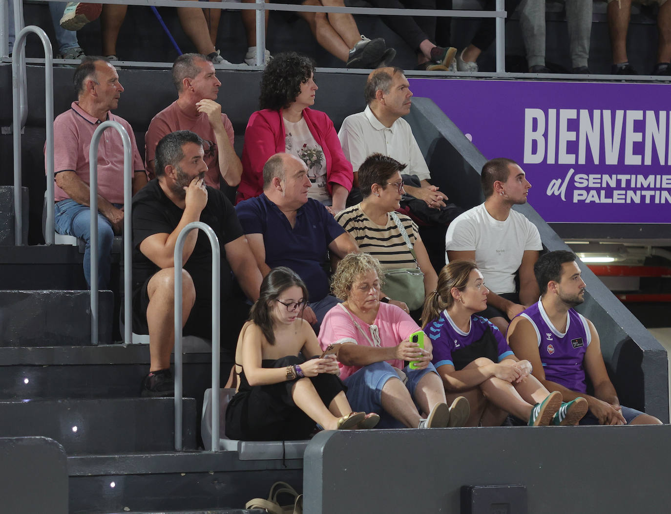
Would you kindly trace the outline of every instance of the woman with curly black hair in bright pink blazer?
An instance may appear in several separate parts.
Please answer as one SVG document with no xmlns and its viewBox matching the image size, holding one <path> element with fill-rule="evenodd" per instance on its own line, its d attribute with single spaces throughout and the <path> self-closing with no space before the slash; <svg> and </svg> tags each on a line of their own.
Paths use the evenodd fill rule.
<svg viewBox="0 0 671 514">
<path fill-rule="evenodd" d="M 308 197 L 332 205 L 338 213 L 345 201 L 354 174 L 333 121 L 310 107 L 315 103 L 315 66 L 296 52 L 278 54 L 268 62 L 261 79 L 261 110 L 252 113 L 242 149 L 242 178 L 236 203 L 263 192 L 263 166 L 277 153 L 303 160 L 311 187 Z"/>
</svg>

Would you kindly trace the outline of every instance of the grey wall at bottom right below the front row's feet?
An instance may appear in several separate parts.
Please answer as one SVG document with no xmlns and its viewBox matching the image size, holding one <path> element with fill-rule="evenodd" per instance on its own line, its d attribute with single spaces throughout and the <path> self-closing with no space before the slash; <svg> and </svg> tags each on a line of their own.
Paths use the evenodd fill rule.
<svg viewBox="0 0 671 514">
<path fill-rule="evenodd" d="M 526 486 L 533 514 L 668 512 L 670 437 L 669 425 L 321 432 L 305 512 L 464 513 L 462 487 L 485 485 Z"/>
</svg>

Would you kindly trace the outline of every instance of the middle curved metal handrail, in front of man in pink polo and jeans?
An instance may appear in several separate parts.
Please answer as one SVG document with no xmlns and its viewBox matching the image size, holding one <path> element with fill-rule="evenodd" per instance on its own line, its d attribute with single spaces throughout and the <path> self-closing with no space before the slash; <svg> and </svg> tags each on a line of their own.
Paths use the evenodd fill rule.
<svg viewBox="0 0 671 514">
<path fill-rule="evenodd" d="M 98 144 L 105 129 L 113 128 L 123 142 L 123 339 L 132 343 L 131 321 L 131 199 L 132 199 L 132 158 L 130 137 L 118 121 L 103 121 L 91 138 L 89 148 L 89 208 L 91 209 L 91 344 L 98 340 Z"/>
</svg>

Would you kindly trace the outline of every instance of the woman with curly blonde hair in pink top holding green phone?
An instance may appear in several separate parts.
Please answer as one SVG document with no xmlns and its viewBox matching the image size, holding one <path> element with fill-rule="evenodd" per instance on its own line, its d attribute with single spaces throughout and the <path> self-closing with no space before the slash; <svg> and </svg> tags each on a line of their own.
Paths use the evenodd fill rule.
<svg viewBox="0 0 671 514">
<path fill-rule="evenodd" d="M 380 303 L 383 278 L 380 263 L 368 254 L 348 254 L 333 275 L 333 294 L 344 303 L 324 317 L 319 344 L 337 346 L 350 405 L 378 413 L 380 428 L 461 426 L 468 401 L 458 398 L 448 407 L 431 364 L 431 340 L 424 338 L 420 348 L 410 340 L 417 323 L 396 305 Z"/>
</svg>

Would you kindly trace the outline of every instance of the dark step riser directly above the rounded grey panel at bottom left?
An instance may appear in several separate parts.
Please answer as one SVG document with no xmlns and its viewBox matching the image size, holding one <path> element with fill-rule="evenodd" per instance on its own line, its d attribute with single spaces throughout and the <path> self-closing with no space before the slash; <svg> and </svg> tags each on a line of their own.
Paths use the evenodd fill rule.
<svg viewBox="0 0 671 514">
<path fill-rule="evenodd" d="M 183 401 L 183 445 L 196 448 L 196 401 Z M 161 452 L 174 448 L 174 399 L 0 401 L 0 436 L 41 435 L 68 455 Z"/>
</svg>

